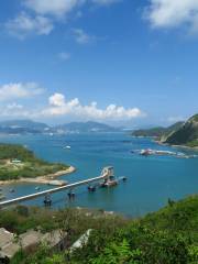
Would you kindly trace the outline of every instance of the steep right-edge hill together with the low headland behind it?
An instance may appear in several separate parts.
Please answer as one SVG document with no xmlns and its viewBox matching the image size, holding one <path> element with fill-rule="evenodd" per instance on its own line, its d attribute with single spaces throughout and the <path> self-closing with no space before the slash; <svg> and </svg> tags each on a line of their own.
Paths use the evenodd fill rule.
<svg viewBox="0 0 198 264">
<path fill-rule="evenodd" d="M 155 136 L 157 141 L 170 145 L 198 146 L 198 114 L 189 118 L 186 122 L 177 122 L 168 128 L 153 128 L 136 130 L 134 136 Z"/>
</svg>

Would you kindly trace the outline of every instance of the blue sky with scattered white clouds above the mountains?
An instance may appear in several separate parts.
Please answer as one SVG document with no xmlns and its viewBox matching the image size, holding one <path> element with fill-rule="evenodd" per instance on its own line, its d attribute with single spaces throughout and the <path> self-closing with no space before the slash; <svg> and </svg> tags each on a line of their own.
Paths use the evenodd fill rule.
<svg viewBox="0 0 198 264">
<path fill-rule="evenodd" d="M 1 0 L 0 120 L 168 125 L 197 61 L 198 0 Z"/>
</svg>

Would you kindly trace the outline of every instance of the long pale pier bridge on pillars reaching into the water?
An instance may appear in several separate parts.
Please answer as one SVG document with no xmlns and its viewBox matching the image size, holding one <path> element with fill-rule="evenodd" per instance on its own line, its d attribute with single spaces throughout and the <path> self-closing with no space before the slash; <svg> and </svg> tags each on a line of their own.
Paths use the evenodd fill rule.
<svg viewBox="0 0 198 264">
<path fill-rule="evenodd" d="M 82 186 L 82 185 L 90 185 L 92 183 L 97 183 L 97 182 L 100 182 L 100 180 L 105 180 L 105 183 L 107 183 L 108 180 L 111 180 L 113 176 L 114 176 L 113 175 L 113 167 L 112 166 L 105 167 L 101 172 L 101 175 L 98 176 L 98 177 L 88 178 L 88 179 L 77 182 L 77 183 L 74 183 L 74 184 L 69 184 L 69 185 L 66 185 L 66 186 L 56 187 L 56 188 L 53 188 L 53 189 L 38 191 L 38 193 L 32 194 L 32 195 L 18 197 L 18 198 L 14 198 L 14 199 L 11 199 L 11 200 L 1 201 L 0 202 L 0 209 L 2 209 L 4 207 L 8 207 L 8 206 L 11 206 L 11 205 L 20 204 L 22 201 L 32 200 L 32 199 L 35 199 L 35 198 L 38 198 L 38 197 L 45 197 L 45 199 L 44 199 L 45 205 L 51 205 L 51 202 L 52 202 L 51 195 L 54 194 L 54 193 L 58 193 L 58 191 L 63 191 L 63 190 L 69 190 L 68 195 L 70 197 L 70 196 L 74 196 L 74 194 L 72 194 L 72 190 L 74 190 L 74 188 L 77 188 L 77 187 Z"/>
</svg>

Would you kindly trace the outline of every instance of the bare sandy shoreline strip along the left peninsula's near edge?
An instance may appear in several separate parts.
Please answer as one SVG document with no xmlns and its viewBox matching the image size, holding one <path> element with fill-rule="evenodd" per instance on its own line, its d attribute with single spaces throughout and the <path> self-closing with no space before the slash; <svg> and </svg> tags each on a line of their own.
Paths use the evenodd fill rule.
<svg viewBox="0 0 198 264">
<path fill-rule="evenodd" d="M 29 184 L 50 184 L 50 182 L 54 180 L 57 177 L 61 177 L 66 174 L 72 174 L 76 172 L 74 166 L 69 166 L 67 169 L 56 172 L 54 174 L 47 174 L 44 176 L 37 176 L 35 178 L 19 178 L 19 179 L 9 179 L 9 180 L 0 180 L 0 186 L 10 185 L 10 184 L 19 184 L 19 183 L 29 183 Z"/>
</svg>

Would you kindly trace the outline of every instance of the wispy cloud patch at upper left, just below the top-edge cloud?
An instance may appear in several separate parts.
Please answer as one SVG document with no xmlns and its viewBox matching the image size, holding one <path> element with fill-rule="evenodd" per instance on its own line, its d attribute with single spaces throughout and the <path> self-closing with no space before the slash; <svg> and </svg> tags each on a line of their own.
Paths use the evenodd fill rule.
<svg viewBox="0 0 198 264">
<path fill-rule="evenodd" d="M 30 34 L 48 35 L 53 31 L 54 25 L 45 16 L 31 16 L 25 12 L 21 12 L 15 19 L 6 23 L 6 29 L 9 34 L 23 40 Z"/>
</svg>

